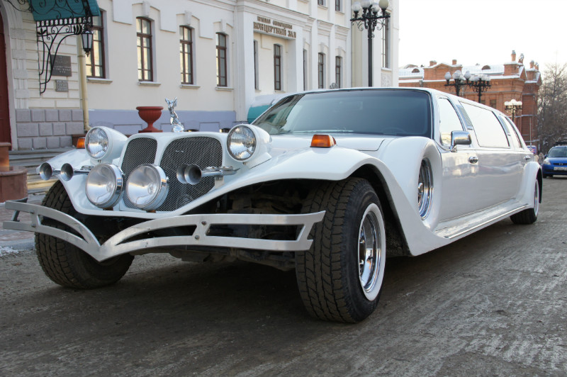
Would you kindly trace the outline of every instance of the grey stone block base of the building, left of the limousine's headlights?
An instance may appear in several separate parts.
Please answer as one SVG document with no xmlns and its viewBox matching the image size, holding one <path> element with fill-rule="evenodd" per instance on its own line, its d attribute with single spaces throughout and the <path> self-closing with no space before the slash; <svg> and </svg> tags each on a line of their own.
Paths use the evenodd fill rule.
<svg viewBox="0 0 567 377">
<path fill-rule="evenodd" d="M 72 146 L 72 135 L 84 133 L 80 109 L 16 109 L 18 150 Z"/>
</svg>

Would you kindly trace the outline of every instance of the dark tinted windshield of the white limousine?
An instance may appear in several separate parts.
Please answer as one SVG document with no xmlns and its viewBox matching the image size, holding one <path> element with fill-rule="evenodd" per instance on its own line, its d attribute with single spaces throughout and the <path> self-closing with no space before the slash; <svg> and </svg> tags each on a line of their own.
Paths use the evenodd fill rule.
<svg viewBox="0 0 567 377">
<path fill-rule="evenodd" d="M 364 133 L 431 137 L 430 96 L 408 90 L 346 90 L 296 94 L 252 123 L 271 135 Z"/>
</svg>

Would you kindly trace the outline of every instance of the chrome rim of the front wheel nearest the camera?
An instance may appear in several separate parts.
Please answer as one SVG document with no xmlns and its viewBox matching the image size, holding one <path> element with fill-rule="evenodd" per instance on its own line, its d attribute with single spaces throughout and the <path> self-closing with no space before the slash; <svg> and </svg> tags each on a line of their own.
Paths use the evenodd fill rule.
<svg viewBox="0 0 567 377">
<path fill-rule="evenodd" d="M 378 220 L 380 218 L 380 220 Z M 384 269 L 383 240 L 380 210 L 371 204 L 359 227 L 359 281 L 364 295 L 374 300 L 380 291 Z"/>
</svg>

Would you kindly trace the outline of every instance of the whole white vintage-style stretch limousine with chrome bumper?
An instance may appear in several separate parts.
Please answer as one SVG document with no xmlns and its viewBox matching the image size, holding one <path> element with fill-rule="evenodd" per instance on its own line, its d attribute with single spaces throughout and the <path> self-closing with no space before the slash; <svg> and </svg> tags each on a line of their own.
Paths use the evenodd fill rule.
<svg viewBox="0 0 567 377">
<path fill-rule="evenodd" d="M 308 312 L 358 322 L 386 256 L 419 255 L 507 217 L 529 224 L 541 168 L 503 113 L 430 89 L 291 94 L 229 133 L 97 127 L 42 206 L 4 227 L 35 232 L 62 286 L 118 281 L 138 254 L 296 269 Z"/>
</svg>

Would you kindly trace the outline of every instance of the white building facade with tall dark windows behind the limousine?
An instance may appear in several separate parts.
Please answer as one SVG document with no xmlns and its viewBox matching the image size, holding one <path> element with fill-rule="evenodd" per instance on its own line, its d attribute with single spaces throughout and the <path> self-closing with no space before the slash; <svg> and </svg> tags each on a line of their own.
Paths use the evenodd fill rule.
<svg viewBox="0 0 567 377">
<path fill-rule="evenodd" d="M 388 32 L 374 33 L 374 86 L 397 85 L 397 1 Z M 0 1 L 9 92 L 9 125 L 1 127 L 13 149 L 66 147 L 89 125 L 137 133 L 145 127 L 137 106 L 164 106 L 154 126 L 167 132 L 165 98 L 178 99 L 186 129 L 218 131 L 247 122 L 264 96 L 367 86 L 367 34 L 349 21 L 351 1 L 96 3 L 86 66 L 77 37 L 67 38 L 58 55 L 70 57 L 70 76 L 54 75 L 40 94 L 32 15 Z"/>
</svg>

